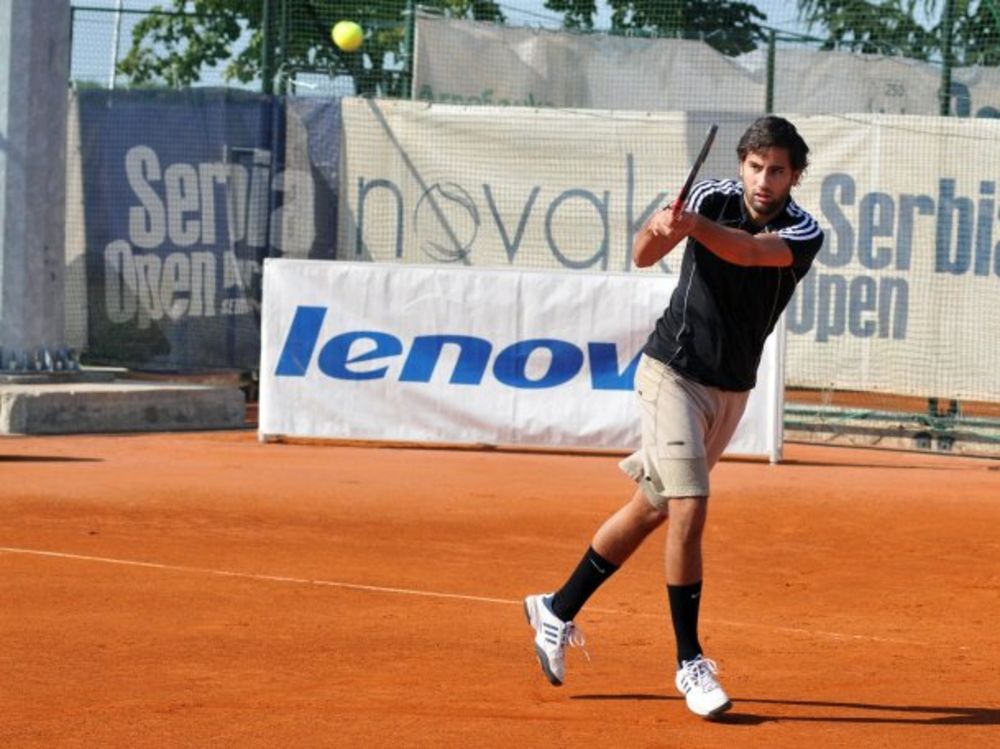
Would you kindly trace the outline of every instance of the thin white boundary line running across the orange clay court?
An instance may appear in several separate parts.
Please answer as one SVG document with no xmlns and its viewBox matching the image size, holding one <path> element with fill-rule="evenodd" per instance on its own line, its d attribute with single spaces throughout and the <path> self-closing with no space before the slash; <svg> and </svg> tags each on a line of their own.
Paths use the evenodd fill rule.
<svg viewBox="0 0 1000 749">
<path fill-rule="evenodd" d="M 384 585 L 361 585 L 359 583 L 345 583 L 336 580 L 316 580 L 307 577 L 287 577 L 284 575 L 263 575 L 255 572 L 235 572 L 233 570 L 213 570 L 207 567 L 186 567 L 178 564 L 161 564 L 159 562 L 141 562 L 136 559 L 114 559 L 111 557 L 95 557 L 86 554 L 70 554 L 61 551 L 44 551 L 42 549 L 23 549 L 10 546 L 0 546 L 0 554 L 23 554 L 26 556 L 48 557 L 53 559 L 69 559 L 76 562 L 96 562 L 100 564 L 116 564 L 122 567 L 142 567 L 153 570 L 166 570 L 169 572 L 186 572 L 199 575 L 215 575 L 216 577 L 235 577 L 243 580 L 259 580 L 273 583 L 292 583 L 294 585 L 317 585 L 328 588 L 344 588 L 346 590 L 363 590 L 372 593 L 393 593 L 407 596 L 424 596 L 426 598 L 445 598 L 460 601 L 474 601 L 478 603 L 498 603 L 506 606 L 521 606 L 521 600 L 511 600 L 509 598 L 490 598 L 488 596 L 472 596 L 464 593 L 442 593 L 432 590 L 415 590 L 413 588 L 393 588 Z M 639 616 L 650 618 L 662 618 L 660 614 L 632 613 L 615 610 L 588 607 L 587 609 L 595 614 L 612 614 Z M 918 645 L 923 647 L 937 647 L 936 643 L 921 642 L 919 640 L 903 640 L 893 637 L 877 637 L 874 635 L 851 635 L 842 632 L 826 632 L 822 630 L 804 629 L 801 627 L 778 627 L 770 624 L 757 624 L 750 622 L 735 622 L 722 619 L 703 619 L 706 624 L 716 624 L 737 629 L 767 629 L 772 632 L 782 632 L 786 634 L 808 635 L 811 637 L 822 637 L 834 640 L 860 640 L 867 642 L 882 642 L 898 645 Z M 967 648 L 959 647 L 959 650 Z"/>
</svg>

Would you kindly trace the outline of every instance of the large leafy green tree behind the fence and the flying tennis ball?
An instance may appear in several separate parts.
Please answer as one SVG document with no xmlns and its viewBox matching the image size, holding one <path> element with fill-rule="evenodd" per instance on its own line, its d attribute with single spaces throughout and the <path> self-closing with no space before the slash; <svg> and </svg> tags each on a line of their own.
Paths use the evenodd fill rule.
<svg viewBox="0 0 1000 749">
<path fill-rule="evenodd" d="M 493 0 L 421 0 L 449 16 L 502 21 Z M 262 0 L 172 0 L 136 24 L 118 70 L 133 85 L 197 83 L 202 71 L 224 64 L 225 80 L 250 83 L 263 73 Z M 279 83 L 302 71 L 354 78 L 358 93 L 399 93 L 398 62 L 405 54 L 406 0 L 272 0 L 273 64 Z M 361 52 L 342 52 L 330 40 L 337 21 L 365 30 Z M 234 52 L 240 45 L 242 49 Z"/>
</svg>

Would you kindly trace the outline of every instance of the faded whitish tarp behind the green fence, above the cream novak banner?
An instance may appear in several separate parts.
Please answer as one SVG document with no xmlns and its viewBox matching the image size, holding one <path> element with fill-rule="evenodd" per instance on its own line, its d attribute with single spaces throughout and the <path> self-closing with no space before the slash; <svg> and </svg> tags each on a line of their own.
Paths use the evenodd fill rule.
<svg viewBox="0 0 1000 749">
<path fill-rule="evenodd" d="M 763 114 L 767 49 L 529 29 L 417 15 L 413 98 L 447 104 Z M 779 112 L 936 115 L 938 65 L 780 45 Z M 950 111 L 1000 117 L 1000 71 L 952 71 Z"/>
</svg>

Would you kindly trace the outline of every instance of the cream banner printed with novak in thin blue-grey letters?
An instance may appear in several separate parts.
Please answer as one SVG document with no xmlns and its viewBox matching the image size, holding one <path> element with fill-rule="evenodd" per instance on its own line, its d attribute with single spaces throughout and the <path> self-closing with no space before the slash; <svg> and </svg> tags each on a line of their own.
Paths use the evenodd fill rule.
<svg viewBox="0 0 1000 749">
<path fill-rule="evenodd" d="M 710 118 L 344 99 L 337 258 L 627 271 Z M 736 170 L 727 123 L 703 176 Z M 680 255 L 664 267 L 672 268 Z"/>
</svg>

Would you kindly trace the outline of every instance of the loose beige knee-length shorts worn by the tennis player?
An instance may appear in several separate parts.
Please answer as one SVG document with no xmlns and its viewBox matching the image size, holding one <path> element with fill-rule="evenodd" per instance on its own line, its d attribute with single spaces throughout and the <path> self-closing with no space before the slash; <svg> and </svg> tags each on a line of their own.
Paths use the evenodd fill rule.
<svg viewBox="0 0 1000 749">
<path fill-rule="evenodd" d="M 663 509 L 671 497 L 707 497 L 708 472 L 732 439 L 749 391 L 699 385 L 645 354 L 635 373 L 642 447 L 619 466 Z"/>
</svg>

